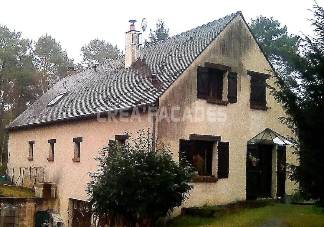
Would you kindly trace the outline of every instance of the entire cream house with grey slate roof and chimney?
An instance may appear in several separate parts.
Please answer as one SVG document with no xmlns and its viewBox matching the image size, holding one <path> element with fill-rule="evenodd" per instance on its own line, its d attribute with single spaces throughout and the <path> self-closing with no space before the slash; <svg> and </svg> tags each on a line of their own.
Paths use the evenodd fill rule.
<svg viewBox="0 0 324 227">
<path fill-rule="evenodd" d="M 125 55 L 61 79 L 7 126 L 8 173 L 42 166 L 76 226 L 97 150 L 150 129 L 199 175 L 185 206 L 292 194 L 292 132 L 278 120 L 272 67 L 242 13 L 144 48 L 139 33 L 132 24 Z"/>
</svg>

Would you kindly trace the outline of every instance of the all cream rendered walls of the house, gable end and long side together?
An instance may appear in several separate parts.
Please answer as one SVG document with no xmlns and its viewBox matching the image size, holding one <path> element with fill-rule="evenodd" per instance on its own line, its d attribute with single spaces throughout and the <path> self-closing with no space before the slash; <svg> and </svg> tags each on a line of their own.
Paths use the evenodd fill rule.
<svg viewBox="0 0 324 227">
<path fill-rule="evenodd" d="M 238 74 L 237 103 L 227 107 L 207 104 L 197 99 L 197 66 L 204 62 L 228 65 Z M 217 183 L 195 183 L 190 199 L 185 206 L 201 206 L 204 204 L 225 204 L 236 200 L 244 200 L 246 194 L 246 142 L 266 127 L 283 135 L 291 135 L 288 128 L 278 121 L 284 112 L 280 105 L 267 95 L 268 111 L 249 109 L 249 76 L 247 70 L 268 73 L 270 66 L 253 37 L 246 28 L 241 17 L 237 16 L 226 27 L 189 68 L 160 97 L 159 108 L 166 107 L 170 113 L 172 106 L 181 109 L 188 106 L 221 107 L 226 113 L 225 122 L 156 122 L 156 135 L 168 142 L 174 152 L 175 160 L 179 159 L 179 139 L 189 139 L 190 133 L 220 135 L 222 141 L 230 142 L 229 178 L 220 179 Z M 273 79 L 268 83 L 273 85 Z M 157 111 L 159 115 L 159 111 Z M 141 116 L 147 119 L 146 114 Z M 206 116 L 205 116 L 206 117 Z M 58 196 L 61 198 L 60 212 L 67 219 L 68 198 L 86 200 L 85 185 L 90 178 L 88 172 L 96 169 L 94 158 L 98 149 L 106 146 L 114 135 L 123 134 L 125 130 L 135 133 L 139 129 L 152 128 L 152 122 L 98 122 L 96 119 L 73 123 L 56 124 L 34 129 L 9 132 L 9 170 L 13 166 L 38 166 L 45 168 L 45 180 L 57 184 Z M 73 163 L 73 137 L 83 137 L 81 143 L 81 162 Z M 54 162 L 48 162 L 49 139 L 56 139 Z M 34 160 L 28 161 L 29 140 L 35 140 Z M 217 170 L 217 149 L 214 149 L 213 172 Z M 295 162 L 291 153 L 287 152 L 287 161 Z M 287 191 L 296 186 L 287 180 Z M 180 209 L 173 215 L 179 214 Z"/>
</svg>

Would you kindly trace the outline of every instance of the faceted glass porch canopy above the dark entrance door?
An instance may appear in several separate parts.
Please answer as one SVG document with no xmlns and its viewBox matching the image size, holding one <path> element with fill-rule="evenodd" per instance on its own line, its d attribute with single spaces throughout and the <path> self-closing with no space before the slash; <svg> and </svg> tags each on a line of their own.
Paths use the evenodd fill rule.
<svg viewBox="0 0 324 227">
<path fill-rule="evenodd" d="M 273 144 L 273 145 L 295 145 L 294 142 L 287 139 L 278 132 L 275 132 L 269 128 L 261 131 L 258 135 L 250 139 L 247 143 L 259 143 L 259 144 Z"/>
</svg>

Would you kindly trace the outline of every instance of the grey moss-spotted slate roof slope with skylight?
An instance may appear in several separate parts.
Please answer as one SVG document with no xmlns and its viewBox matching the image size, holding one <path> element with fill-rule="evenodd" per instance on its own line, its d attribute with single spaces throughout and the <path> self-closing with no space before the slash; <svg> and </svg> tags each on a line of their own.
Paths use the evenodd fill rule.
<svg viewBox="0 0 324 227">
<path fill-rule="evenodd" d="M 182 32 L 140 50 L 146 66 L 124 68 L 125 56 L 62 78 L 48 92 L 21 113 L 7 129 L 77 119 L 98 112 L 151 105 L 200 55 L 218 34 L 241 12 Z M 157 74 L 157 83 L 152 83 Z M 47 104 L 68 92 L 56 105 Z"/>
</svg>

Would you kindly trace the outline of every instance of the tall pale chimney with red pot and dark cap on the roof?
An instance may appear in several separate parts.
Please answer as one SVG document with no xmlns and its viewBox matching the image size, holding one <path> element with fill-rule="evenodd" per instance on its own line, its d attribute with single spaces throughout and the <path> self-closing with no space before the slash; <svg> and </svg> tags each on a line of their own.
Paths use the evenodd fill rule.
<svg viewBox="0 0 324 227">
<path fill-rule="evenodd" d="M 131 67 L 139 58 L 139 35 L 140 32 L 135 30 L 134 23 L 136 20 L 130 20 L 131 28 L 126 32 L 126 48 L 125 48 L 125 69 Z"/>
</svg>

